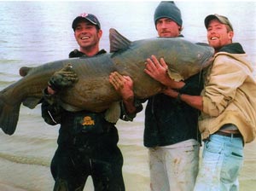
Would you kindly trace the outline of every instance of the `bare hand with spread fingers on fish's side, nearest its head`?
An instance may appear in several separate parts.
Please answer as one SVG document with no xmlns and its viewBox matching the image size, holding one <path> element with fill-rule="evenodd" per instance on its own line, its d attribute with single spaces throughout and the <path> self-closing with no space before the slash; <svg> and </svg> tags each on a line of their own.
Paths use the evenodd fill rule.
<svg viewBox="0 0 256 191">
<path fill-rule="evenodd" d="M 161 84 L 165 84 L 170 80 L 167 70 L 168 66 L 166 61 L 163 58 L 160 58 L 160 61 L 156 59 L 154 55 L 151 56 L 151 59 L 147 59 L 146 72 L 151 78 L 154 78 L 156 81 L 159 81 Z"/>
</svg>

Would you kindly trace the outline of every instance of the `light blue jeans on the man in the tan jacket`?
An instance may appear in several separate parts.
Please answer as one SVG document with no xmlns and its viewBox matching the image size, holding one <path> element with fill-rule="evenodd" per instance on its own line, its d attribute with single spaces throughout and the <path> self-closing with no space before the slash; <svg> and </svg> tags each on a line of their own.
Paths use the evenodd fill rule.
<svg viewBox="0 0 256 191">
<path fill-rule="evenodd" d="M 238 175 L 242 163 L 241 137 L 211 135 L 204 144 L 194 191 L 239 190 Z"/>
</svg>

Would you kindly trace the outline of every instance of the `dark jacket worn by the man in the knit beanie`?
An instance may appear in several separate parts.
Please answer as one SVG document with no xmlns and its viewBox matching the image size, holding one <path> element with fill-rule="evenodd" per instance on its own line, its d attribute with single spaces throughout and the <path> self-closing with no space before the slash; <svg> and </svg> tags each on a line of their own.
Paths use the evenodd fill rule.
<svg viewBox="0 0 256 191">
<path fill-rule="evenodd" d="M 204 82 L 201 77 L 202 72 L 185 80 L 179 92 L 199 96 Z M 201 142 L 199 114 L 199 110 L 170 96 L 150 97 L 145 112 L 144 146 L 167 146 L 189 139 Z"/>
</svg>

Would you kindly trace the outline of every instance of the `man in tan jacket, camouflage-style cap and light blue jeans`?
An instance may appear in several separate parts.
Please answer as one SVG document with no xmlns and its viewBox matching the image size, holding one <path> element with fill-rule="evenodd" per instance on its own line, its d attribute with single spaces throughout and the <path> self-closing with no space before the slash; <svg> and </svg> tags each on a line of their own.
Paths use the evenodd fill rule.
<svg viewBox="0 0 256 191">
<path fill-rule="evenodd" d="M 256 134 L 256 82 L 253 66 L 240 43 L 232 43 L 233 26 L 228 18 L 210 14 L 205 19 L 207 39 L 215 60 L 207 72 L 201 96 L 173 90 L 177 97 L 201 110 L 199 127 L 204 144 L 195 191 L 238 190 L 243 145 Z"/>
</svg>

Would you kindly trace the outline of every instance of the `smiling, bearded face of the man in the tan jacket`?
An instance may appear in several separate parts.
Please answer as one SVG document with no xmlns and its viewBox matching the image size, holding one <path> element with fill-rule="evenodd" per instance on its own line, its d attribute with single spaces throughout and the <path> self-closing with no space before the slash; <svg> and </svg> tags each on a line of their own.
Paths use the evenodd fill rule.
<svg viewBox="0 0 256 191">
<path fill-rule="evenodd" d="M 234 32 L 229 26 L 222 24 L 219 20 L 213 19 L 207 26 L 207 39 L 210 46 L 216 51 L 221 49 L 224 45 L 232 43 Z"/>
</svg>

